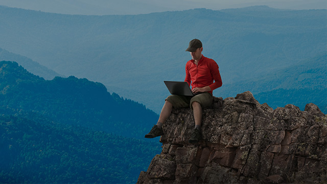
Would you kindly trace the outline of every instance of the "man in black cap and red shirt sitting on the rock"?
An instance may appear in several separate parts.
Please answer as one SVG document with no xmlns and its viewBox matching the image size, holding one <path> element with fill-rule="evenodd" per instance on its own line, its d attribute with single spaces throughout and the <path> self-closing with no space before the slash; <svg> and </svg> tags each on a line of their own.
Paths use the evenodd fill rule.
<svg viewBox="0 0 327 184">
<path fill-rule="evenodd" d="M 160 112 L 159 120 L 151 131 L 145 135 L 146 138 L 153 138 L 164 134 L 162 125 L 169 118 L 172 108 L 193 109 L 195 128 L 192 132 L 190 143 L 198 143 L 201 140 L 202 109 L 213 102 L 213 90 L 222 85 L 218 64 L 202 55 L 202 43 L 193 39 L 189 43 L 189 51 L 192 59 L 185 66 L 185 80 L 192 85 L 192 92 L 200 93 L 194 97 L 170 95 L 166 98 L 165 104 Z M 192 83 L 191 83 L 192 81 Z"/>
</svg>

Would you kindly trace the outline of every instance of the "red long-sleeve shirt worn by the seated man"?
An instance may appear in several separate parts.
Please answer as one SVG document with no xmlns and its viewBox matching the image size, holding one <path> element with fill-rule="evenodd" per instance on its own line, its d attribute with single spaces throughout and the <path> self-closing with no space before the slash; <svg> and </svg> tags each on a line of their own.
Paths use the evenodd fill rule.
<svg viewBox="0 0 327 184">
<path fill-rule="evenodd" d="M 188 82 L 192 88 L 209 86 L 213 94 L 213 90 L 222 86 L 222 81 L 219 73 L 219 66 L 213 59 L 209 59 L 202 55 L 198 65 L 194 64 L 194 60 L 191 59 L 185 66 L 185 82 Z"/>
</svg>

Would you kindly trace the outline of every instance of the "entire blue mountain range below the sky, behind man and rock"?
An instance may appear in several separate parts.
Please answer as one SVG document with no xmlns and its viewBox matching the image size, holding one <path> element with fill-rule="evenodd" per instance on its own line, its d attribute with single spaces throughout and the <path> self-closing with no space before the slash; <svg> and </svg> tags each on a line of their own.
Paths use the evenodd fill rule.
<svg viewBox="0 0 327 184">
<path fill-rule="evenodd" d="M 0 6 L 0 182 L 135 183 L 160 153 L 144 134 L 169 95 L 162 81 L 184 80 L 193 38 L 220 66 L 216 97 L 249 90 L 273 108 L 315 103 L 326 113 L 326 13 L 91 16 Z"/>
</svg>

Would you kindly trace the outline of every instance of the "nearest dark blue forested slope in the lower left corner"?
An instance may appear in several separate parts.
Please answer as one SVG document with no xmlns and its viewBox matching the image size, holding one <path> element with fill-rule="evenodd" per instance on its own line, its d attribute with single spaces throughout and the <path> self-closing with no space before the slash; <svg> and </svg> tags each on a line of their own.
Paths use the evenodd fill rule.
<svg viewBox="0 0 327 184">
<path fill-rule="evenodd" d="M 135 183 L 160 145 L 0 110 L 0 183 Z M 33 119 L 33 120 L 32 120 Z"/>
</svg>

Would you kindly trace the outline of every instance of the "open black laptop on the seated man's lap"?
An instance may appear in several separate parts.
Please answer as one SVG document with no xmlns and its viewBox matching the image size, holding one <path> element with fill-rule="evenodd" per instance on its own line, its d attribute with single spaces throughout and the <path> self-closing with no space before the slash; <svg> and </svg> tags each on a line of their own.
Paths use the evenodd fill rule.
<svg viewBox="0 0 327 184">
<path fill-rule="evenodd" d="M 183 95 L 183 96 L 195 96 L 201 93 L 193 94 L 192 90 L 187 82 L 180 81 L 164 81 L 170 94 Z"/>
</svg>

